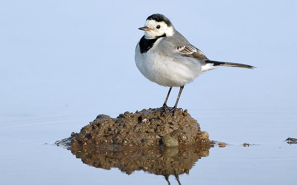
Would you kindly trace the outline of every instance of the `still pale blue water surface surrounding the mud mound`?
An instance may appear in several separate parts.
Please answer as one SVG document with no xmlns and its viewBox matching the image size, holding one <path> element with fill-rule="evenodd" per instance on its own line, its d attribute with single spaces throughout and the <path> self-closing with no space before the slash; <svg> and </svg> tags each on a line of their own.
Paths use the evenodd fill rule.
<svg viewBox="0 0 297 185">
<path fill-rule="evenodd" d="M 297 137 L 297 112 L 189 110 L 189 113 L 200 123 L 201 130 L 209 132 L 211 140 L 228 145 L 210 148 L 208 157 L 201 157 L 185 170 L 186 173 L 179 174 L 181 184 L 295 184 L 297 144 L 290 145 L 284 140 Z M 1 184 L 168 184 L 165 176 L 144 172 L 148 171 L 147 167 L 128 175 L 123 169 L 89 166 L 69 150 L 54 144 L 56 140 L 70 136 L 72 131 L 79 132 L 96 116 L 2 118 Z M 250 145 L 243 147 L 243 143 Z M 161 152 L 154 157 L 165 161 L 172 155 Z M 168 181 L 178 184 L 174 175 L 170 175 Z"/>
</svg>

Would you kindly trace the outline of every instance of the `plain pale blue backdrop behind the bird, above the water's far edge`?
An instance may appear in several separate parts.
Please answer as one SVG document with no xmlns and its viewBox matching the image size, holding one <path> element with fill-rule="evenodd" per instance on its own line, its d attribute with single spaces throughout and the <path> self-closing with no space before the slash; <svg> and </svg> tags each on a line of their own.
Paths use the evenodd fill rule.
<svg viewBox="0 0 297 185">
<path fill-rule="evenodd" d="M 296 10 L 296 1 L 1 1 L 0 114 L 116 116 L 160 107 L 168 88 L 134 62 L 137 28 L 153 13 L 169 17 L 208 58 L 258 67 L 199 76 L 179 107 L 296 109 Z"/>
</svg>

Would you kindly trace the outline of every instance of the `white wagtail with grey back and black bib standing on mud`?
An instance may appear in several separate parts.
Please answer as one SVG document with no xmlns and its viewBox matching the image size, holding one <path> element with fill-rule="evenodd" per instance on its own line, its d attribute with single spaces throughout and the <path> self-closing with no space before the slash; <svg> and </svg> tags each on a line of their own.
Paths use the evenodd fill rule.
<svg viewBox="0 0 297 185">
<path fill-rule="evenodd" d="M 180 87 L 175 105 L 169 111 L 173 112 L 173 115 L 184 85 L 192 82 L 201 73 L 219 66 L 253 68 L 240 63 L 209 60 L 202 51 L 176 31 L 170 20 L 162 14 L 149 16 L 144 27 L 138 29 L 145 32 L 135 49 L 136 66 L 150 81 L 170 87 L 162 106 L 164 110 L 168 108 L 166 103 L 172 87 Z"/>
</svg>

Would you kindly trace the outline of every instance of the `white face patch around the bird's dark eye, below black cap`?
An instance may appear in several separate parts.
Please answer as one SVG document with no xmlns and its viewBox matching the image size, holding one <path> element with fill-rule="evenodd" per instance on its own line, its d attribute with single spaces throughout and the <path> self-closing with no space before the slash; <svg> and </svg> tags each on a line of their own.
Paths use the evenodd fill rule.
<svg viewBox="0 0 297 185">
<path fill-rule="evenodd" d="M 155 38 L 166 33 L 166 36 L 172 36 L 174 28 L 173 26 L 167 26 L 165 22 L 157 22 L 155 20 L 146 20 L 145 25 L 149 29 L 144 32 L 146 38 Z"/>
</svg>

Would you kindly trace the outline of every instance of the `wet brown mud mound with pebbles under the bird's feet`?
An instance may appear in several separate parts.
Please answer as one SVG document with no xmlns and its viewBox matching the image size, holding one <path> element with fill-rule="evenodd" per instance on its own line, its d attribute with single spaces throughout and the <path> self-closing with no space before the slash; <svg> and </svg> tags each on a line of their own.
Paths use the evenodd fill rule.
<svg viewBox="0 0 297 185">
<path fill-rule="evenodd" d="M 160 109 L 125 112 L 117 118 L 100 114 L 83 127 L 80 133 L 62 140 L 71 146 L 183 146 L 212 144 L 208 133 L 201 131 L 199 123 L 187 113 L 177 110 L 175 116 L 161 116 Z M 164 114 L 164 113 L 163 113 Z"/>
</svg>

